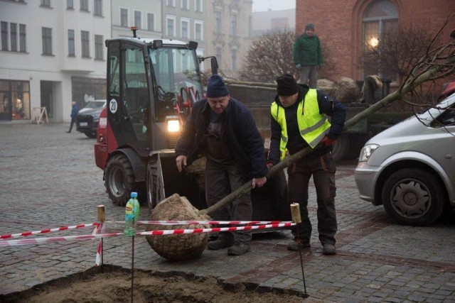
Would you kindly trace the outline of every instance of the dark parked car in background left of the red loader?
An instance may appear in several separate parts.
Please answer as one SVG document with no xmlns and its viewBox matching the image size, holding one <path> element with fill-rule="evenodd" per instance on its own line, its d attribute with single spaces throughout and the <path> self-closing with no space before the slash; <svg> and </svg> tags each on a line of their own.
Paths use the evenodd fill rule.
<svg viewBox="0 0 455 303">
<path fill-rule="evenodd" d="M 97 138 L 98 121 L 106 100 L 92 100 L 77 113 L 76 131 L 85 133 L 88 138 Z"/>
</svg>

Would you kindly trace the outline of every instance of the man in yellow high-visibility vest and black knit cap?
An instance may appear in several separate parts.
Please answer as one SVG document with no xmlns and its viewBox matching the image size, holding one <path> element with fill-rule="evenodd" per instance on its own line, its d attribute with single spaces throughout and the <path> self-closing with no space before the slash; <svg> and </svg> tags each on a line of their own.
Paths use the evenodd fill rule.
<svg viewBox="0 0 455 303">
<path fill-rule="evenodd" d="M 346 120 L 343 104 L 318 89 L 297 84 L 291 75 L 277 78 L 277 97 L 270 108 L 271 131 L 267 167 L 303 148 L 311 153 L 289 165 L 289 203 L 299 203 L 301 223 L 291 228 L 294 240 L 289 250 L 310 247 L 311 222 L 308 216 L 309 180 L 313 176 L 318 204 L 319 241 L 324 255 L 333 255 L 338 228 L 335 212 L 336 166 L 331 148 L 341 135 Z M 331 116 L 329 122 L 328 116 Z"/>
</svg>

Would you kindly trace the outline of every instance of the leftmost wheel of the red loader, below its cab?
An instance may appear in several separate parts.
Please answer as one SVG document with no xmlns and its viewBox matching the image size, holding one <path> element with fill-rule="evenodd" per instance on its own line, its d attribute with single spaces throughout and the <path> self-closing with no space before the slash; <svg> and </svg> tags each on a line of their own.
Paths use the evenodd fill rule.
<svg viewBox="0 0 455 303">
<path fill-rule="evenodd" d="M 106 166 L 105 186 L 112 203 L 125 206 L 134 191 L 134 172 L 125 155 L 114 155 Z"/>
</svg>

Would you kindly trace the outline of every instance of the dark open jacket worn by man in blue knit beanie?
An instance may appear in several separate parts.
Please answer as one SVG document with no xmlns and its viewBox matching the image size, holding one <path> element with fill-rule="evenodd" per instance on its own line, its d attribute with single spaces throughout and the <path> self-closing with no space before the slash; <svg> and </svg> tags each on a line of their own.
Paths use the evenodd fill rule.
<svg viewBox="0 0 455 303">
<path fill-rule="evenodd" d="M 199 158 L 205 148 L 203 135 L 207 132 L 210 111 L 207 99 L 197 101 L 183 125 L 176 145 L 176 155 L 186 155 L 188 165 Z M 245 167 L 249 177 L 264 177 L 267 174 L 264 143 L 250 110 L 240 101 L 230 98 L 223 126 L 235 160 Z"/>
</svg>

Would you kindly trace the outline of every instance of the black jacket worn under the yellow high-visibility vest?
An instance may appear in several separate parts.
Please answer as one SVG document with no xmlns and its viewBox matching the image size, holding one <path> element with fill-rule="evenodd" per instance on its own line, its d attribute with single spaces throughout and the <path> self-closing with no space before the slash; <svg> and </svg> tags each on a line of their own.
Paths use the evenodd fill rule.
<svg viewBox="0 0 455 303">
<path fill-rule="evenodd" d="M 289 141 L 287 143 L 287 150 L 292 155 L 302 148 L 306 148 L 308 143 L 304 141 L 304 138 L 301 137 L 299 133 L 299 127 L 297 125 L 297 106 L 300 102 L 304 102 L 306 93 L 308 92 L 309 87 L 306 84 L 299 84 L 299 96 L 297 97 L 296 104 L 291 106 L 286 111 L 286 124 L 287 124 L 287 133 Z M 331 117 L 331 128 L 328 131 L 329 138 L 336 140 L 338 136 L 341 135 L 343 131 L 344 123 L 346 120 L 346 107 L 341 104 L 340 101 L 335 98 L 324 94 L 319 89 L 317 90 L 317 99 L 319 104 L 319 113 L 326 114 Z M 282 107 L 282 103 L 279 101 L 278 96 L 275 97 L 275 102 L 278 106 Z M 270 125 L 272 135 L 270 137 L 270 148 L 269 154 L 267 156 L 267 161 L 277 164 L 280 158 L 279 143 L 282 136 L 282 127 L 279 125 L 275 119 L 273 119 L 272 114 L 270 114 Z M 294 127 L 292 127 L 294 126 Z M 305 158 L 316 158 L 320 155 L 326 154 L 331 150 L 331 147 L 322 147 L 316 148 L 309 155 L 306 155 Z"/>
</svg>

